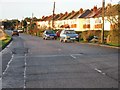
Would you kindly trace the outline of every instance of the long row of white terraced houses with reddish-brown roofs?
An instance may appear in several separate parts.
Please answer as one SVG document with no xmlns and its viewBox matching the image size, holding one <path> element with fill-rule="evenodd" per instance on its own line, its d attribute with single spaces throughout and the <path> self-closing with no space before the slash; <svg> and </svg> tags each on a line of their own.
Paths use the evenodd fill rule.
<svg viewBox="0 0 120 90">
<path fill-rule="evenodd" d="M 118 5 L 108 4 L 105 8 L 105 30 L 115 28 L 118 21 Z M 114 13 L 112 13 L 113 11 Z M 111 19 L 111 20 L 110 20 Z M 53 15 L 43 16 L 37 21 L 38 28 L 52 28 Z M 54 15 L 54 29 L 74 29 L 75 31 L 102 30 L 102 8 L 94 6 L 91 10 L 82 8 L 78 11 L 65 12 Z"/>
</svg>

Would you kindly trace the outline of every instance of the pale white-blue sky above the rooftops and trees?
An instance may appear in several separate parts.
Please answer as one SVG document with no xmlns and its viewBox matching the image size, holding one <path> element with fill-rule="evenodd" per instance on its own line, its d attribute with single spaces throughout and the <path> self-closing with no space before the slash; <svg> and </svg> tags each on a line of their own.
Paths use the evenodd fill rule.
<svg viewBox="0 0 120 90">
<path fill-rule="evenodd" d="M 53 2 L 55 13 L 78 11 L 80 8 L 92 9 L 101 7 L 102 0 L 0 0 L 0 19 L 19 19 L 26 17 L 41 18 L 52 14 Z M 117 4 L 120 0 L 105 0 L 105 4 Z"/>
</svg>

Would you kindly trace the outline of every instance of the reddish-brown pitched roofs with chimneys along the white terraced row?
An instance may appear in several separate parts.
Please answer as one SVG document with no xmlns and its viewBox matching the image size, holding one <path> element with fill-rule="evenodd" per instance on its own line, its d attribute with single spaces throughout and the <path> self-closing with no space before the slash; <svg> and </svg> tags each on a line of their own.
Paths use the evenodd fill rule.
<svg viewBox="0 0 120 90">
<path fill-rule="evenodd" d="M 117 5 L 108 5 L 105 8 L 105 15 L 118 15 L 120 4 Z M 113 13 L 111 13 L 113 12 Z M 97 6 L 94 6 L 93 9 L 84 10 L 81 8 L 79 11 L 72 11 L 70 13 L 65 12 L 60 14 L 55 14 L 54 20 L 65 20 L 65 19 L 76 19 L 76 18 L 94 18 L 94 17 L 100 17 L 102 16 L 102 8 L 97 8 Z M 50 21 L 53 19 L 53 15 L 50 16 L 43 16 L 41 21 Z"/>
</svg>

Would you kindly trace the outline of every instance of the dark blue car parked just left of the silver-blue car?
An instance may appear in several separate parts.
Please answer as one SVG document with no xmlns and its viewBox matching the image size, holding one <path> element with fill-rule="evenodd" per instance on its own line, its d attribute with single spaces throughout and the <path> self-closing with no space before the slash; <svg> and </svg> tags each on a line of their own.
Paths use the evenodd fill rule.
<svg viewBox="0 0 120 90">
<path fill-rule="evenodd" d="M 43 39 L 57 39 L 56 33 L 53 30 L 45 30 L 43 35 Z"/>
</svg>

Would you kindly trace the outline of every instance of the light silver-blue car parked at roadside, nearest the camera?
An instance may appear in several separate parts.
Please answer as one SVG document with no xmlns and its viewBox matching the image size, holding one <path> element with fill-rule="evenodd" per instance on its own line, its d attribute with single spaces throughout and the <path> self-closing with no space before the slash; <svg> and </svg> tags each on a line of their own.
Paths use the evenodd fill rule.
<svg viewBox="0 0 120 90">
<path fill-rule="evenodd" d="M 79 38 L 74 30 L 62 30 L 60 33 L 60 42 L 74 42 Z"/>
</svg>

